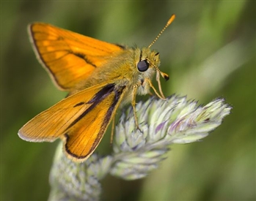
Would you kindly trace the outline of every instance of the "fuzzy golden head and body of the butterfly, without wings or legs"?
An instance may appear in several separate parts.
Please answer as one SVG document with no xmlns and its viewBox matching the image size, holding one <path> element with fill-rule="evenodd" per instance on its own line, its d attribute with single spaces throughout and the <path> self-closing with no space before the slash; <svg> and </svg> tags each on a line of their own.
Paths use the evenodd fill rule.
<svg viewBox="0 0 256 201">
<path fill-rule="evenodd" d="M 145 62 L 145 69 L 139 69 L 140 61 Z M 125 48 L 109 56 L 101 67 L 95 68 L 93 75 L 82 80 L 72 94 L 101 83 L 125 86 L 125 91 L 132 91 L 137 85 L 137 94 L 148 94 L 150 86 L 145 80 L 152 80 L 159 65 L 160 59 L 156 51 L 149 48 Z"/>
</svg>

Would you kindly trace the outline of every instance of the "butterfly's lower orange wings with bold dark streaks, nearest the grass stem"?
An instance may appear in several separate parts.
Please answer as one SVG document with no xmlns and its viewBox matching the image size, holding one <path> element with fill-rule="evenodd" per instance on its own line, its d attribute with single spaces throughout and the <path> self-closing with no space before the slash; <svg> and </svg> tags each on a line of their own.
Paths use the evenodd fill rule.
<svg viewBox="0 0 256 201">
<path fill-rule="evenodd" d="M 125 86 L 103 83 L 63 99 L 32 118 L 18 132 L 23 140 L 65 143 L 70 159 L 86 160 L 100 143 L 109 122 L 120 105 Z"/>
</svg>

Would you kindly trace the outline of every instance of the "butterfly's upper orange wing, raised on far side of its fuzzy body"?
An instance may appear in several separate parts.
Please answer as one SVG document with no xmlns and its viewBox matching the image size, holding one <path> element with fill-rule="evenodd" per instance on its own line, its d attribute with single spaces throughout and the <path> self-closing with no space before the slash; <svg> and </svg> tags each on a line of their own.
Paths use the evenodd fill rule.
<svg viewBox="0 0 256 201">
<path fill-rule="evenodd" d="M 29 25 L 34 52 L 60 89 L 70 91 L 102 67 L 108 58 L 124 50 L 120 45 L 85 37 L 47 23 Z"/>
</svg>

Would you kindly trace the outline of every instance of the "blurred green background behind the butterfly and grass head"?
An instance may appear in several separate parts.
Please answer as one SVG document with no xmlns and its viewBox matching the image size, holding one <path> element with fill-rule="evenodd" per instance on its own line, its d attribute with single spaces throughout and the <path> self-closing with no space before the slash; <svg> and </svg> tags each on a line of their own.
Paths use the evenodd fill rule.
<svg viewBox="0 0 256 201">
<path fill-rule="evenodd" d="M 170 75 L 164 94 L 232 113 L 199 143 L 174 145 L 138 181 L 108 176 L 102 200 L 255 200 L 255 1 L 1 1 L 1 200 L 47 200 L 56 143 L 28 143 L 18 129 L 65 96 L 29 44 L 26 26 L 52 23 L 122 45 L 153 45 Z M 109 146 L 106 134 L 102 146 Z"/>
</svg>

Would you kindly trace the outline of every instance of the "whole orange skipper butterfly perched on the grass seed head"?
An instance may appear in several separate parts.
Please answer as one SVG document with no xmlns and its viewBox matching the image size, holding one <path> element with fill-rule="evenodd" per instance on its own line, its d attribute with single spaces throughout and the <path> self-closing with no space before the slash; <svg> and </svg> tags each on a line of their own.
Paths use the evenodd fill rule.
<svg viewBox="0 0 256 201">
<path fill-rule="evenodd" d="M 169 19 L 164 29 L 172 23 Z M 160 32 L 160 34 L 164 31 Z M 128 48 L 47 23 L 29 25 L 34 52 L 51 75 L 56 86 L 69 91 L 69 96 L 32 118 L 18 132 L 30 142 L 52 142 L 61 138 L 64 150 L 75 162 L 84 162 L 97 148 L 117 108 L 127 102 L 134 107 L 136 94 L 149 94 L 150 88 L 160 98 L 160 76 L 156 51 Z M 156 73 L 160 94 L 151 83 Z"/>
</svg>

